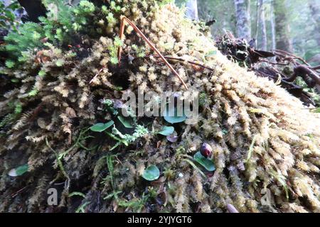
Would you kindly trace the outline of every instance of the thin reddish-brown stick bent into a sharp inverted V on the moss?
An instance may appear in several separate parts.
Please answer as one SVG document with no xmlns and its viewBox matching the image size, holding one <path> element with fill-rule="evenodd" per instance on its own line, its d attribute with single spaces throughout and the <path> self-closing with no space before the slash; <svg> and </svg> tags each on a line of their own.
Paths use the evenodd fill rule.
<svg viewBox="0 0 320 227">
<path fill-rule="evenodd" d="M 129 18 L 122 16 L 121 17 L 121 25 L 120 25 L 120 33 L 119 33 L 119 37 L 120 40 L 124 39 L 124 22 L 129 23 L 130 26 L 132 26 L 132 28 L 134 28 L 134 31 L 136 31 L 143 39 L 144 41 L 146 41 L 146 43 L 150 46 L 150 48 L 152 50 L 154 50 L 156 52 L 157 55 L 159 55 L 161 57 L 161 59 L 166 63 L 166 65 L 170 68 L 170 70 L 172 72 L 174 72 L 174 74 L 176 75 L 176 77 L 178 77 L 178 79 L 181 81 L 181 83 L 183 84 L 183 87 L 185 87 L 186 89 L 188 89 L 186 83 L 183 81 L 183 79 L 180 77 L 180 75 L 178 74 L 178 72 L 176 72 L 176 70 L 174 70 L 174 67 L 172 67 L 170 65 L 170 63 L 166 60 L 166 58 L 161 55 L 161 52 L 154 46 L 153 43 L 150 42 L 150 40 L 148 38 L 146 38 L 146 35 L 144 35 L 144 33 L 142 33 L 142 31 L 140 31 L 139 28 L 137 28 L 137 26 L 135 26 L 135 24 L 129 20 Z M 118 48 L 118 60 L 119 60 L 119 64 L 121 62 L 121 53 L 122 53 L 122 47 L 120 46 Z"/>
</svg>

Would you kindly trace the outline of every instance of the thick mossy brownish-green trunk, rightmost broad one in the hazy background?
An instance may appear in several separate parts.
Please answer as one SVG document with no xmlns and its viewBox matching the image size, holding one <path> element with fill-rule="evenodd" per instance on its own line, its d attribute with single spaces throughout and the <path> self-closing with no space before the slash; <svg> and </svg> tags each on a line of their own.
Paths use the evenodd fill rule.
<svg viewBox="0 0 320 227">
<path fill-rule="evenodd" d="M 290 40 L 290 28 L 287 15 L 287 0 L 274 0 L 274 16 L 276 31 L 276 48 L 279 50 L 293 51 Z"/>
</svg>

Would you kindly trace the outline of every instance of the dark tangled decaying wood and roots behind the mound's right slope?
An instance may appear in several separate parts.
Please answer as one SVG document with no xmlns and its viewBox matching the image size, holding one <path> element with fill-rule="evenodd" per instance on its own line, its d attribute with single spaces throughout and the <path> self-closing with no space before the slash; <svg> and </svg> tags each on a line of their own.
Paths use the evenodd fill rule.
<svg viewBox="0 0 320 227">
<path fill-rule="evenodd" d="M 246 40 L 235 38 L 231 33 L 226 33 L 222 38 L 218 38 L 217 44 L 219 50 L 230 59 L 245 62 L 245 66 L 255 71 L 257 75 L 269 77 L 274 82 L 280 78 L 281 86 L 288 92 L 301 99 L 304 104 L 315 105 L 311 95 L 304 92 L 302 87 L 294 84 L 294 81 L 297 77 L 302 77 L 309 88 L 315 87 L 316 84 L 319 85 L 320 77 L 317 70 L 320 69 L 320 66 L 311 67 L 302 57 L 284 50 L 256 50 L 250 45 L 250 42 L 247 43 Z M 260 64 L 262 62 L 263 65 Z M 284 67 L 292 69 L 292 74 L 282 72 Z"/>
</svg>

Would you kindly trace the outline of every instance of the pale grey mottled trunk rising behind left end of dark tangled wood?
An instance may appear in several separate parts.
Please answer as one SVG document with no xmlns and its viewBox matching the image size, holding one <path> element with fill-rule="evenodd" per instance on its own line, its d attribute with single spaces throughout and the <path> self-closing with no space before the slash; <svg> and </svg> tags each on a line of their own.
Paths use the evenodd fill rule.
<svg viewBox="0 0 320 227">
<path fill-rule="evenodd" d="M 238 38 L 251 39 L 250 0 L 233 0 Z"/>
</svg>

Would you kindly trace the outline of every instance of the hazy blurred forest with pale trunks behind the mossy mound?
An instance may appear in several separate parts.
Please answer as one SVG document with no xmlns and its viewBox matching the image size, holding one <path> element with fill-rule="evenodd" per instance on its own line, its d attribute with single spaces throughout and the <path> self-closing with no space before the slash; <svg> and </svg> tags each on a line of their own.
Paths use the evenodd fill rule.
<svg viewBox="0 0 320 227">
<path fill-rule="evenodd" d="M 189 17 L 214 22 L 213 37 L 230 31 L 260 50 L 286 50 L 320 65 L 319 0 L 176 0 Z M 197 12 L 196 12 L 197 11 Z"/>
</svg>

